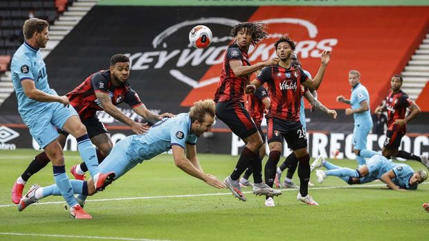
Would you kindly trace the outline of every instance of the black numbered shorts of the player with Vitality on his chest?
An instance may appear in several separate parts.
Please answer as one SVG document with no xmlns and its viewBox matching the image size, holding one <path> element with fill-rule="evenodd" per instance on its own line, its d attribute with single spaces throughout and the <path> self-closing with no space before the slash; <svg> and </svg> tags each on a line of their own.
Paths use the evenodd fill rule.
<svg viewBox="0 0 429 241">
<path fill-rule="evenodd" d="M 292 150 L 307 148 L 307 134 L 300 121 L 281 120 L 271 117 L 266 122 L 268 124 L 268 143 L 275 141 L 283 143 L 284 138 L 288 148 Z"/>
</svg>

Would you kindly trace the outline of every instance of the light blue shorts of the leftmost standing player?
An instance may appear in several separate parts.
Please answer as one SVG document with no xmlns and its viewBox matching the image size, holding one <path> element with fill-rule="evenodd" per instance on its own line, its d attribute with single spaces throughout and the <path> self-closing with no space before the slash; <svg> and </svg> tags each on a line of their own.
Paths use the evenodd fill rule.
<svg viewBox="0 0 429 241">
<path fill-rule="evenodd" d="M 58 137 L 57 128 L 62 129 L 64 123 L 71 116 L 77 116 L 76 110 L 70 105 L 64 107 L 60 102 L 52 102 L 43 111 L 35 115 L 26 125 L 31 136 L 37 141 L 40 148 L 53 142 Z"/>
</svg>

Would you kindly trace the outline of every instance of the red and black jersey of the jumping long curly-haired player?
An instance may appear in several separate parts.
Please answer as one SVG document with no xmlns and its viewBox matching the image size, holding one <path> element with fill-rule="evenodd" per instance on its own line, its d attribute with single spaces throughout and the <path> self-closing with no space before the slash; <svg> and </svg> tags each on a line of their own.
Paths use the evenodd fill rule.
<svg viewBox="0 0 429 241">
<path fill-rule="evenodd" d="M 244 87 L 249 82 L 250 75 L 236 77 L 230 67 L 231 60 L 240 60 L 243 66 L 250 66 L 246 51 L 239 48 L 237 44 L 228 46 L 225 57 L 223 57 L 221 80 L 217 84 L 215 102 L 227 100 L 244 102 Z"/>
</svg>

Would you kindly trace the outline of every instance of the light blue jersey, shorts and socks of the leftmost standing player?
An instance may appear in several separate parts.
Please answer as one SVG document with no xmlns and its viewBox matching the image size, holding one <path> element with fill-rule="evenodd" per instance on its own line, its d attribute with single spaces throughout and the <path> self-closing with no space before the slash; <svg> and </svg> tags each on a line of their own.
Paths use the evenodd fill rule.
<svg viewBox="0 0 429 241">
<path fill-rule="evenodd" d="M 58 137 L 55 127 L 62 129 L 66 120 L 77 115 L 77 112 L 73 107 L 64 107 L 60 102 L 41 102 L 26 96 L 21 84 L 23 80 L 32 80 L 39 91 L 57 95 L 53 89 L 49 88 L 46 65 L 38 48 L 33 48 L 24 42 L 12 57 L 10 71 L 17 95 L 19 114 L 40 148 L 45 148 Z M 77 148 L 88 166 L 91 176 L 98 174 L 97 155 L 88 135 L 78 138 Z M 77 202 L 73 197 L 71 183 L 65 172 L 64 166 L 53 166 L 55 184 L 60 188 L 59 193 L 61 192 L 70 206 L 74 206 Z"/>
</svg>

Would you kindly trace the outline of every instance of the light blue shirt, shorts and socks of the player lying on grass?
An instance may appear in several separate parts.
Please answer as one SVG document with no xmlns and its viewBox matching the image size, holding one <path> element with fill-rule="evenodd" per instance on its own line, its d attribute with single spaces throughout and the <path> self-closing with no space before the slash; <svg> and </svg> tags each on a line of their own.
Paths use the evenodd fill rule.
<svg viewBox="0 0 429 241">
<path fill-rule="evenodd" d="M 410 178 L 414 174 L 414 170 L 404 163 L 394 163 L 392 160 L 376 154 L 367 161 L 366 165 L 368 168 L 368 175 L 366 177 L 360 177 L 360 184 L 366 184 L 380 179 L 386 172 L 393 170 L 395 177 L 392 181 L 396 186 L 404 189 L 417 189 L 417 184 L 410 186 Z M 329 163 L 329 161 L 324 161 L 323 166 L 328 169 L 325 171 L 327 176 L 340 177 L 346 182 L 349 181 L 349 177 L 358 177 L 358 172 L 356 170 L 341 168 Z"/>
</svg>

